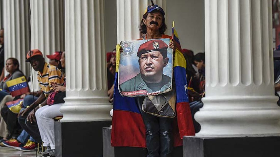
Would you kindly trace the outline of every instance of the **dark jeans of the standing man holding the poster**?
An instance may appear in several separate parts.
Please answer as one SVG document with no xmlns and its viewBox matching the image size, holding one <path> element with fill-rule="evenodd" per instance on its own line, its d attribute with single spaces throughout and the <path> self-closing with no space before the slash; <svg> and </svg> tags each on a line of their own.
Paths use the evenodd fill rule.
<svg viewBox="0 0 280 157">
<path fill-rule="evenodd" d="M 147 157 L 171 157 L 173 145 L 173 118 L 162 118 L 142 112 L 146 126 Z"/>
</svg>

